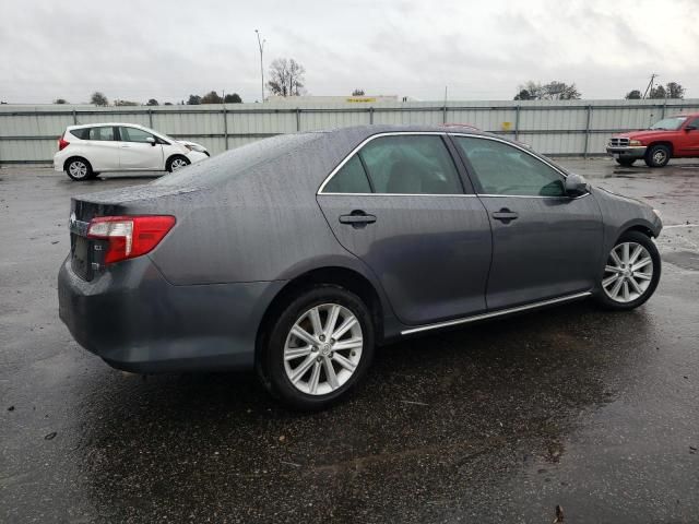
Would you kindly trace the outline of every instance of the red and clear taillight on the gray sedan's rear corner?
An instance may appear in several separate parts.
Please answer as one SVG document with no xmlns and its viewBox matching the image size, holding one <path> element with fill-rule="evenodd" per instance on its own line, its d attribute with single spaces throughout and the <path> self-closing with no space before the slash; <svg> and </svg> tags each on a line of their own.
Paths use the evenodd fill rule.
<svg viewBox="0 0 699 524">
<path fill-rule="evenodd" d="M 104 263 L 111 264 L 152 251 L 174 225 L 169 215 L 98 216 L 90 222 L 87 238 L 109 242 Z"/>
</svg>

